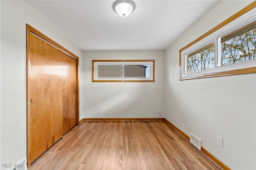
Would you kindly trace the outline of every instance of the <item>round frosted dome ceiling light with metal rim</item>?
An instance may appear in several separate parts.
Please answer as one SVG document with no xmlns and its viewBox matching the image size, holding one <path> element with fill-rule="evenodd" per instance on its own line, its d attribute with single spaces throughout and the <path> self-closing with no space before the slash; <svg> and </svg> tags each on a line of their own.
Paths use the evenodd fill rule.
<svg viewBox="0 0 256 170">
<path fill-rule="evenodd" d="M 113 8 L 118 15 L 126 17 L 134 10 L 135 4 L 131 0 L 117 0 L 114 2 Z"/>
</svg>

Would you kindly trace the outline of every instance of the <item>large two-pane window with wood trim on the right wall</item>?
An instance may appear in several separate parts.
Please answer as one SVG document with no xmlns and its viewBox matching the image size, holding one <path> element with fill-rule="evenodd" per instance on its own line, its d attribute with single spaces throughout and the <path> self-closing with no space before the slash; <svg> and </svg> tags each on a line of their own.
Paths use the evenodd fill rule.
<svg viewBox="0 0 256 170">
<path fill-rule="evenodd" d="M 255 72 L 255 3 L 180 49 L 180 80 Z"/>
</svg>

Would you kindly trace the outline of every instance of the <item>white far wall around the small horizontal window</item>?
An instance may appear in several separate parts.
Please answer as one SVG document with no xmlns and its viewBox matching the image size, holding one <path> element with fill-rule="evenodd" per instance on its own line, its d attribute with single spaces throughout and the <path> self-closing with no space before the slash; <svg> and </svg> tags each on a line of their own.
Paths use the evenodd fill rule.
<svg viewBox="0 0 256 170">
<path fill-rule="evenodd" d="M 155 82 L 92 82 L 99 59 L 154 59 Z M 164 117 L 164 51 L 84 51 L 83 60 L 85 118 Z"/>
</svg>

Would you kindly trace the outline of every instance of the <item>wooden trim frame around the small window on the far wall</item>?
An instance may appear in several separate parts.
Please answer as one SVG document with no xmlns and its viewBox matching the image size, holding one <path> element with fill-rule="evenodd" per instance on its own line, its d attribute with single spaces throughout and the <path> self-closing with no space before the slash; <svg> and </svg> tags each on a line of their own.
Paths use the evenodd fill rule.
<svg viewBox="0 0 256 170">
<path fill-rule="evenodd" d="M 94 63 L 96 62 L 108 62 L 108 63 L 152 62 L 152 68 L 150 68 L 152 70 L 152 80 L 95 80 L 94 79 Z M 92 82 L 155 82 L 155 60 L 92 60 Z"/>
</svg>

